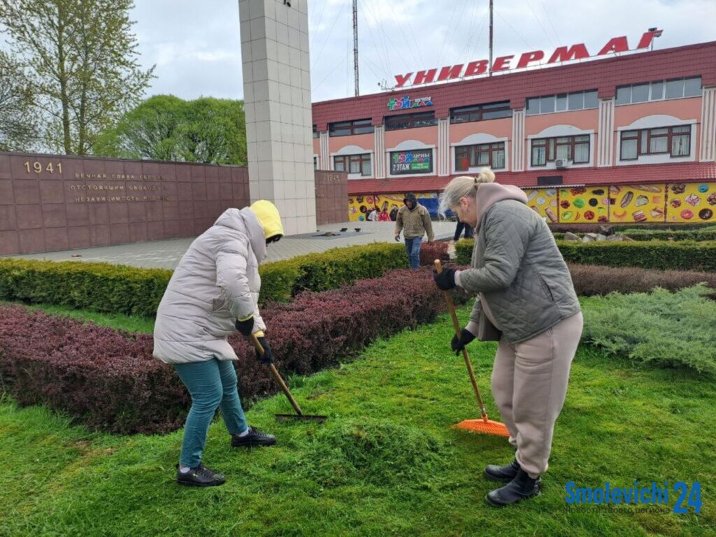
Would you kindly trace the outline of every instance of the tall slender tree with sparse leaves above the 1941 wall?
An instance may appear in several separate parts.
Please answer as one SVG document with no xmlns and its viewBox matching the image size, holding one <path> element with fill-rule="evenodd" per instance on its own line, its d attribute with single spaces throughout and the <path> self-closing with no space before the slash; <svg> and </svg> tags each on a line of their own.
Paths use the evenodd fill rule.
<svg viewBox="0 0 716 537">
<path fill-rule="evenodd" d="M 141 100 L 154 67 L 140 69 L 133 5 L 0 0 L 0 24 L 24 63 L 50 150 L 91 153 L 98 133 Z"/>
</svg>

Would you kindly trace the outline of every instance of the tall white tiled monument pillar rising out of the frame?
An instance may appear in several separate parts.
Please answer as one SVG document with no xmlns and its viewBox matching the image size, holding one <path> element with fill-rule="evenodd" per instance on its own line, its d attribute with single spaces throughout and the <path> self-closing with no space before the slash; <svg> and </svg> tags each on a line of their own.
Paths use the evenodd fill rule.
<svg viewBox="0 0 716 537">
<path fill-rule="evenodd" d="M 287 235 L 316 231 L 307 0 L 239 0 L 251 201 Z"/>
</svg>

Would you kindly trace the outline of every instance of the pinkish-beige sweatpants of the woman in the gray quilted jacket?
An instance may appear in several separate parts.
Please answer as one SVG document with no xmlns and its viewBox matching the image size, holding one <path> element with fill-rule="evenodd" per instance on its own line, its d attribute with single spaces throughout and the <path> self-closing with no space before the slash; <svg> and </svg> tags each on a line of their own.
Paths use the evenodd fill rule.
<svg viewBox="0 0 716 537">
<path fill-rule="evenodd" d="M 531 478 L 547 470 L 554 422 L 564 404 L 583 324 L 579 313 L 526 342 L 511 345 L 503 339 L 498 344 L 492 392 L 517 448 L 517 462 Z"/>
</svg>

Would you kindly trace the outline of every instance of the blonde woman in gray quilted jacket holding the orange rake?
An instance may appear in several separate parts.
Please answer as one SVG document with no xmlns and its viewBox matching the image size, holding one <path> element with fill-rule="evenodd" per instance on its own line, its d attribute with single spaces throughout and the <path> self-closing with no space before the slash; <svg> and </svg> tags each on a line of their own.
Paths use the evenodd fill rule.
<svg viewBox="0 0 716 537">
<path fill-rule="evenodd" d="M 475 337 L 499 341 L 492 392 L 516 456 L 504 466 L 488 465 L 485 476 L 506 483 L 488 502 L 507 505 L 539 493 L 583 319 L 547 224 L 520 188 L 494 180 L 485 169 L 445 188 L 441 211 L 449 208 L 475 228 L 475 248 L 471 269 L 434 276 L 442 290 L 459 286 L 478 296 L 453 350 L 460 353 Z"/>
</svg>

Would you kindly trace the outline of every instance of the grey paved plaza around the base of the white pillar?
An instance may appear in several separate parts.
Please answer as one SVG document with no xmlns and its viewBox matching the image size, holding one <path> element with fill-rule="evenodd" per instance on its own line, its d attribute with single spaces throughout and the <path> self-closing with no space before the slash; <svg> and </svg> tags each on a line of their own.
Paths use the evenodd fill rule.
<svg viewBox="0 0 716 537">
<path fill-rule="evenodd" d="M 341 232 L 341 228 L 348 231 Z M 360 228 L 359 232 L 354 231 Z M 322 252 L 340 246 L 355 244 L 392 242 L 393 222 L 347 222 L 319 226 L 320 233 L 332 231 L 338 236 L 316 236 L 319 233 L 287 236 L 269 246 L 266 261 L 278 261 L 301 256 L 304 253 Z M 452 238 L 455 222 L 433 222 L 436 239 Z M 117 265 L 140 266 L 147 269 L 174 269 L 181 256 L 189 248 L 193 238 L 175 238 L 170 241 L 102 246 L 83 250 L 69 250 L 51 253 L 33 253 L 17 256 L 24 259 L 49 259 L 52 261 L 105 261 Z"/>
</svg>

